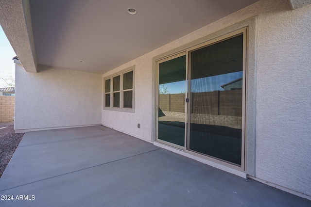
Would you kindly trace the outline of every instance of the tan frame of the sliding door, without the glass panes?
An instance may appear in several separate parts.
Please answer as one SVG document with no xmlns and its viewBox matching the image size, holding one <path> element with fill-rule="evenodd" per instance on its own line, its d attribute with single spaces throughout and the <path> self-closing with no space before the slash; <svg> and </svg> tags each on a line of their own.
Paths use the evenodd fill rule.
<svg viewBox="0 0 311 207">
<path fill-rule="evenodd" d="M 243 34 L 243 63 L 242 63 L 242 153 L 241 153 L 241 166 L 231 163 L 231 162 L 227 162 L 225 160 L 222 159 L 216 159 L 198 152 L 194 152 L 189 150 L 189 137 L 190 137 L 190 125 L 189 125 L 189 120 L 190 120 L 190 65 L 191 65 L 191 52 L 195 51 L 197 49 L 200 48 L 205 48 L 208 47 L 210 45 L 216 44 L 218 42 L 222 42 L 225 41 L 226 39 L 230 39 L 234 36 L 238 36 L 240 34 Z M 230 32 L 227 33 L 225 35 L 221 35 L 215 39 L 206 41 L 204 43 L 198 44 L 196 46 L 190 47 L 190 48 L 185 48 L 183 50 L 180 50 L 179 52 L 176 53 L 171 53 L 172 55 L 168 54 L 166 56 L 162 56 L 163 58 L 160 59 L 156 59 L 155 60 L 155 142 L 158 143 L 163 143 L 169 146 L 172 146 L 176 149 L 182 150 L 188 154 L 203 158 L 203 159 L 207 159 L 222 165 L 225 165 L 227 167 L 242 171 L 242 172 L 246 172 L 246 167 L 245 167 L 245 162 L 246 162 L 246 131 L 245 131 L 245 127 L 246 127 L 246 106 L 247 106 L 247 68 L 246 66 L 248 65 L 248 60 L 247 60 L 247 48 L 248 48 L 248 28 L 247 27 L 243 27 L 242 29 L 239 29 L 235 32 Z M 180 57 L 186 55 L 186 95 L 185 95 L 185 99 L 188 100 L 188 103 L 185 100 L 185 144 L 184 146 L 180 146 L 177 144 L 173 144 L 173 143 L 169 143 L 163 140 L 158 139 L 158 93 L 159 93 L 159 64 L 172 60 L 174 58 Z"/>
</svg>

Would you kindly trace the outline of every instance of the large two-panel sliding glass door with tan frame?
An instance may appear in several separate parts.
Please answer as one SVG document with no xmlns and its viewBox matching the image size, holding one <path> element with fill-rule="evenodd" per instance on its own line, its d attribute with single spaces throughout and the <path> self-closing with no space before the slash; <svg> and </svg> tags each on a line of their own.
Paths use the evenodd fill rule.
<svg viewBox="0 0 311 207">
<path fill-rule="evenodd" d="M 245 65 L 246 30 L 158 61 L 156 141 L 243 169 Z"/>
</svg>

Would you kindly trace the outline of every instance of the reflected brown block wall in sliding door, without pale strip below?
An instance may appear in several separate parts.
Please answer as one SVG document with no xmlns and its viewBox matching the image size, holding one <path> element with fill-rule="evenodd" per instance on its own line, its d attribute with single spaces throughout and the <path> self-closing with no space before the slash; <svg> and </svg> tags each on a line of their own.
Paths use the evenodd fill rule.
<svg viewBox="0 0 311 207">
<path fill-rule="evenodd" d="M 191 113 L 242 116 L 242 90 L 192 93 Z M 185 112 L 185 94 L 160 94 L 161 111 Z"/>
</svg>

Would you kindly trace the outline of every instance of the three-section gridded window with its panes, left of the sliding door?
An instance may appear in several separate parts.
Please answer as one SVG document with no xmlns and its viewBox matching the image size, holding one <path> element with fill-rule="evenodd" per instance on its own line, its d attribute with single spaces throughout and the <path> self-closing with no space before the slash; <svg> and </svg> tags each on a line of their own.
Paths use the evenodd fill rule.
<svg viewBox="0 0 311 207">
<path fill-rule="evenodd" d="M 134 112 L 134 66 L 104 79 L 104 109 Z"/>
</svg>

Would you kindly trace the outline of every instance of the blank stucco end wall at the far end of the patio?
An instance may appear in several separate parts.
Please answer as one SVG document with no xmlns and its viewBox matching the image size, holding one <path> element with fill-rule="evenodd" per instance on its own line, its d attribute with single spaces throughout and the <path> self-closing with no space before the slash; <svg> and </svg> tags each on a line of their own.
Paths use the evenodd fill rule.
<svg viewBox="0 0 311 207">
<path fill-rule="evenodd" d="M 101 124 L 102 76 L 16 64 L 15 130 Z"/>
</svg>

